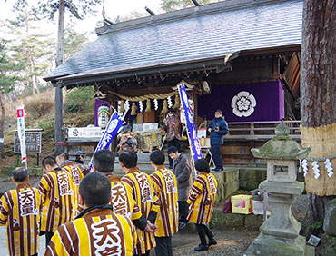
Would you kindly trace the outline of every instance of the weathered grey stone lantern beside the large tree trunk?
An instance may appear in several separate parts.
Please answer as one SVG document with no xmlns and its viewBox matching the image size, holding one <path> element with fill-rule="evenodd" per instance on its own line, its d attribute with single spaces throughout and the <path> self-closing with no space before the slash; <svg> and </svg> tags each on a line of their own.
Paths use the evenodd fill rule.
<svg viewBox="0 0 336 256">
<path fill-rule="evenodd" d="M 267 161 L 267 180 L 259 188 L 269 193 L 271 216 L 263 222 L 261 233 L 245 255 L 314 255 L 314 249 L 306 246 L 305 238 L 299 235 L 301 223 L 291 211 L 292 203 L 304 189 L 304 183 L 296 181 L 297 161 L 306 158 L 311 148 L 302 148 L 289 133 L 290 129 L 282 122 L 272 140 L 260 149 L 251 150 L 254 157 Z"/>
</svg>

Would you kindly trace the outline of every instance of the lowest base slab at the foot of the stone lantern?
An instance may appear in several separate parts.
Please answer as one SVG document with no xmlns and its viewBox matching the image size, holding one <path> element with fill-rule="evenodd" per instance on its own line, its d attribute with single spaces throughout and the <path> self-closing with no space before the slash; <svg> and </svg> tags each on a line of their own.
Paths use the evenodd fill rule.
<svg viewBox="0 0 336 256">
<path fill-rule="evenodd" d="M 315 249 L 306 246 L 306 240 L 303 236 L 298 236 L 293 243 L 289 243 L 274 237 L 266 237 L 261 233 L 252 241 L 245 255 L 313 256 L 315 255 Z"/>
</svg>

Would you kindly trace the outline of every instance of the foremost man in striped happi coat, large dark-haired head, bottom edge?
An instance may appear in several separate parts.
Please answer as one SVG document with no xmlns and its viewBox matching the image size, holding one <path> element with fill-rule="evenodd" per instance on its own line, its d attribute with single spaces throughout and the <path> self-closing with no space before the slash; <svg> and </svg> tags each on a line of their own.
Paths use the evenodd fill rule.
<svg viewBox="0 0 336 256">
<path fill-rule="evenodd" d="M 132 256 L 136 231 L 128 218 L 113 212 L 111 182 L 101 173 L 89 173 L 79 193 L 84 211 L 58 228 L 44 255 Z"/>
</svg>

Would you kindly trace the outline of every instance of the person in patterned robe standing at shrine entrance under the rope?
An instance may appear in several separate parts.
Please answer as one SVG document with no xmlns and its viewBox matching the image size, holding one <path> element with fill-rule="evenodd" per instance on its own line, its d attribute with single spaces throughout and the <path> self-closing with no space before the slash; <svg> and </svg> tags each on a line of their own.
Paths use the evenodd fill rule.
<svg viewBox="0 0 336 256">
<path fill-rule="evenodd" d="M 175 146 L 178 151 L 181 151 L 181 120 L 173 109 L 167 113 L 167 117 L 163 120 L 164 130 L 167 132 L 168 148 Z M 168 156 L 169 168 L 173 169 L 173 159 Z"/>
</svg>

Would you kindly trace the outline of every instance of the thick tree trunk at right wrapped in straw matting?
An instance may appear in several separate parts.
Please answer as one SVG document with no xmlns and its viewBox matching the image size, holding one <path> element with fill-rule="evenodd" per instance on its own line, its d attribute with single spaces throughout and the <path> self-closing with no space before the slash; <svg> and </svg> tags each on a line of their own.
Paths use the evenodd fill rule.
<svg viewBox="0 0 336 256">
<path fill-rule="evenodd" d="M 320 171 L 324 170 L 324 159 L 335 161 L 332 155 L 336 152 L 335 5 L 336 0 L 305 0 L 303 6 L 301 137 L 302 146 L 311 147 L 310 157 L 318 161 Z M 335 177 L 321 172 L 321 176 L 314 179 L 311 163 L 305 182 L 310 193 L 311 222 L 317 222 L 324 219 L 325 204 L 335 198 L 336 189 L 332 184 Z"/>
</svg>

